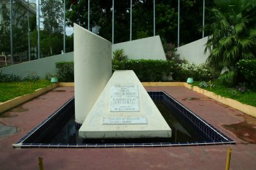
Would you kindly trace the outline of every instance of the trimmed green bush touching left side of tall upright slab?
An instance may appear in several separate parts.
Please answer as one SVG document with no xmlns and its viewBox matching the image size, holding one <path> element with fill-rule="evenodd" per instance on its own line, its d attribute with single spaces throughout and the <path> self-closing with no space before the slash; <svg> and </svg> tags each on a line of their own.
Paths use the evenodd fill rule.
<svg viewBox="0 0 256 170">
<path fill-rule="evenodd" d="M 56 62 L 57 78 L 61 82 L 74 82 L 74 62 L 61 61 Z"/>
</svg>

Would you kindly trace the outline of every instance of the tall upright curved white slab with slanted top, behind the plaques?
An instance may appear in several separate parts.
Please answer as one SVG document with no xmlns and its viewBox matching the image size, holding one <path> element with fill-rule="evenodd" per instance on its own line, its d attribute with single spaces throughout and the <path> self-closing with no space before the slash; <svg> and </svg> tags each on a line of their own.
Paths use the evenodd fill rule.
<svg viewBox="0 0 256 170">
<path fill-rule="evenodd" d="M 76 122 L 83 124 L 112 74 L 111 42 L 74 24 Z"/>
</svg>

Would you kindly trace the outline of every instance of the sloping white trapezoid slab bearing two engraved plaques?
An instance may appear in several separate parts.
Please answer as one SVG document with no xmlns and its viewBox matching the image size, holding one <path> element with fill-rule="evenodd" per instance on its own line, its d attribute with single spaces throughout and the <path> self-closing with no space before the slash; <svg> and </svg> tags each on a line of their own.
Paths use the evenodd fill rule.
<svg viewBox="0 0 256 170">
<path fill-rule="evenodd" d="M 80 138 L 171 136 L 172 130 L 133 71 L 115 71 L 79 129 Z"/>
</svg>

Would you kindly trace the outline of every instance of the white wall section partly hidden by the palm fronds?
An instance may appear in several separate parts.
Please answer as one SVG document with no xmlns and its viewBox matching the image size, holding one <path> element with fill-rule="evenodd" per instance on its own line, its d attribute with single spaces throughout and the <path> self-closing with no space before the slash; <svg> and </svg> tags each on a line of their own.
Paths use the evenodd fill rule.
<svg viewBox="0 0 256 170">
<path fill-rule="evenodd" d="M 209 51 L 206 54 L 204 53 L 207 39 L 208 37 L 205 37 L 178 47 L 176 53 L 180 55 L 179 59 L 188 60 L 196 65 L 204 63 L 209 56 Z"/>
</svg>

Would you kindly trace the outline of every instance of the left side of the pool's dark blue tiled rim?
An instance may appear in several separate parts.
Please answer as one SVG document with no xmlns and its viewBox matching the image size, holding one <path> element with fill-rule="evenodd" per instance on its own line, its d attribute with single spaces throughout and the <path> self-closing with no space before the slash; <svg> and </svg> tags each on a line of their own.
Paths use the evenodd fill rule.
<svg viewBox="0 0 256 170">
<path fill-rule="evenodd" d="M 36 139 L 40 138 L 44 132 L 48 131 L 52 125 L 54 125 L 61 117 L 65 116 L 70 107 L 74 104 L 74 97 L 63 104 L 58 110 L 54 111 L 49 117 L 47 117 L 43 122 L 38 124 L 32 131 L 22 137 L 17 143 L 33 143 Z"/>
</svg>

